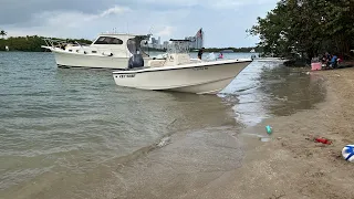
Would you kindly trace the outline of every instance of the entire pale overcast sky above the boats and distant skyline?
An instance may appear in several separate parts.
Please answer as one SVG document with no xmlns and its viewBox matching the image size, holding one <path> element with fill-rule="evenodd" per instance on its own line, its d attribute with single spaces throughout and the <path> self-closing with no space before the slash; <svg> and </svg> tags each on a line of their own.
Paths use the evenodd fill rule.
<svg viewBox="0 0 354 199">
<path fill-rule="evenodd" d="M 184 39 L 202 28 L 205 46 L 253 46 L 257 17 L 278 0 L 0 0 L 9 35 L 85 38 L 113 31 Z"/>
</svg>

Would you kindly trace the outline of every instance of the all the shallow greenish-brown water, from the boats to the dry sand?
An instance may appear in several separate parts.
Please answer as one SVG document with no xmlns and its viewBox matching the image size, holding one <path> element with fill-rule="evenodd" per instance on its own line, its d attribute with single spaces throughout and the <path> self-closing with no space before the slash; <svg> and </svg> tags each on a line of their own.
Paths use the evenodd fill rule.
<svg viewBox="0 0 354 199">
<path fill-rule="evenodd" d="M 241 164 L 242 127 L 311 108 L 325 92 L 275 62 L 251 63 L 218 96 L 118 87 L 111 73 L 0 53 L 0 198 L 178 195 Z"/>
</svg>

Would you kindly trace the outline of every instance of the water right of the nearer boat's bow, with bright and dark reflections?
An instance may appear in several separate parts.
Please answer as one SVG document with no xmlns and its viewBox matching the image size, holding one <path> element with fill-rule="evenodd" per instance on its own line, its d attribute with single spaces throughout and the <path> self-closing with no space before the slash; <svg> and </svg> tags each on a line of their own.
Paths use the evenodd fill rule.
<svg viewBox="0 0 354 199">
<path fill-rule="evenodd" d="M 309 109 L 325 96 L 323 80 L 279 62 L 253 62 L 223 91 L 237 95 L 238 118 L 256 125 L 270 116 L 285 116 Z"/>
</svg>

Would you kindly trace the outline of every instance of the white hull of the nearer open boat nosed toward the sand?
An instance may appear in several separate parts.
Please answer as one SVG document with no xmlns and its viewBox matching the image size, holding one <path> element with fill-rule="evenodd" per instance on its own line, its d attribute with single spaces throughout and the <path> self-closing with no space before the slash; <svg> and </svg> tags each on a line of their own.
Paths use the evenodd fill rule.
<svg viewBox="0 0 354 199">
<path fill-rule="evenodd" d="M 126 87 L 216 94 L 250 63 L 251 61 L 207 62 L 195 66 L 114 72 L 113 77 L 117 85 Z"/>
</svg>

